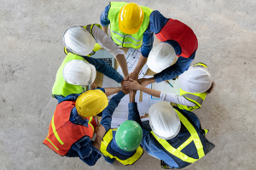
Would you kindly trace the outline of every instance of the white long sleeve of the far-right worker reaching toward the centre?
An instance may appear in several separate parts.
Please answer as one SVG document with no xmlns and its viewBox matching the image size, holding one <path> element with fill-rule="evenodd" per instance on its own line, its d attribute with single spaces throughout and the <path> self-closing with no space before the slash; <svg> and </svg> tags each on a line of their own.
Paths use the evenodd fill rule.
<svg viewBox="0 0 256 170">
<path fill-rule="evenodd" d="M 172 102 L 179 105 L 195 106 L 195 104 L 181 95 L 166 93 L 161 91 L 160 99 L 167 102 Z"/>
</svg>

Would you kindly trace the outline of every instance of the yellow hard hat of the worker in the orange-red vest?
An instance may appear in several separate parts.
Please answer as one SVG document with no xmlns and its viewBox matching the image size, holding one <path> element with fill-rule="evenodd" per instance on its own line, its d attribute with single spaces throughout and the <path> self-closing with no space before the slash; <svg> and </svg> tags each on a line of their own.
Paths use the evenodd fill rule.
<svg viewBox="0 0 256 170">
<path fill-rule="evenodd" d="M 107 95 L 99 89 L 86 91 L 76 100 L 76 109 L 84 117 L 96 116 L 107 106 Z"/>
</svg>

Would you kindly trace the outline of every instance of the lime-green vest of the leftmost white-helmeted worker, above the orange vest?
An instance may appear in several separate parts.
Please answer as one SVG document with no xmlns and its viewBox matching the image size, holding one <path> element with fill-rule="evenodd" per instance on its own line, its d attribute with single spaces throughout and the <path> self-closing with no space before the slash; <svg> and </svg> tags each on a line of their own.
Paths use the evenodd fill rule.
<svg viewBox="0 0 256 170">
<path fill-rule="evenodd" d="M 69 94 L 81 94 L 84 92 L 85 89 L 82 86 L 69 84 L 65 82 L 62 76 L 63 67 L 67 64 L 68 61 L 71 61 L 73 59 L 80 59 L 88 62 L 86 59 L 79 55 L 68 53 L 66 58 L 63 60 L 59 70 L 57 71 L 55 77 L 55 84 L 52 88 L 53 97 L 55 97 L 55 95 L 62 95 L 66 97 Z"/>
</svg>

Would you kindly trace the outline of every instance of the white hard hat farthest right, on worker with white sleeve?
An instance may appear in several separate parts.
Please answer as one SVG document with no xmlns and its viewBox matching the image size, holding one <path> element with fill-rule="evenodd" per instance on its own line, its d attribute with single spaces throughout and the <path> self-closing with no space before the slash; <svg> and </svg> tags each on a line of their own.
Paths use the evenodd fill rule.
<svg viewBox="0 0 256 170">
<path fill-rule="evenodd" d="M 188 71 L 178 76 L 180 88 L 191 94 L 201 94 L 212 86 L 212 76 L 207 67 L 190 66 Z"/>
</svg>

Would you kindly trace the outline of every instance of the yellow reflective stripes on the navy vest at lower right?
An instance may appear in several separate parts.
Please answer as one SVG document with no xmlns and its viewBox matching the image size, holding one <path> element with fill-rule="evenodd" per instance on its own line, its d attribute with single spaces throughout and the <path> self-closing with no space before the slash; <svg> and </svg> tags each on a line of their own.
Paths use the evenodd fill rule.
<svg viewBox="0 0 256 170">
<path fill-rule="evenodd" d="M 175 110 L 177 111 L 177 110 Z M 201 157 L 205 156 L 205 152 L 203 150 L 203 145 L 201 144 L 201 139 L 199 138 L 198 133 L 195 130 L 195 127 L 193 127 L 193 125 L 189 122 L 189 120 L 183 116 L 183 114 L 181 114 L 179 111 L 177 111 L 177 115 L 180 119 L 180 121 L 183 123 L 184 127 L 186 127 L 190 133 L 190 137 L 189 139 L 187 139 L 183 144 L 181 144 L 177 149 L 175 149 L 174 147 L 172 147 L 171 144 L 169 144 L 166 139 L 160 139 L 158 138 L 153 131 L 151 131 L 150 133 L 153 134 L 154 138 L 158 140 L 158 142 L 165 148 L 165 150 L 167 150 L 170 154 L 172 154 L 173 156 L 176 156 L 177 158 L 181 159 L 182 161 L 186 161 L 189 163 L 193 163 L 199 159 L 201 159 Z M 183 150 L 183 148 L 185 148 L 187 145 L 189 145 L 191 142 L 194 142 L 195 144 L 195 148 L 197 150 L 198 153 L 198 157 L 199 159 L 195 159 L 192 157 L 189 157 L 185 154 L 183 154 L 183 152 L 181 150 Z"/>
</svg>

